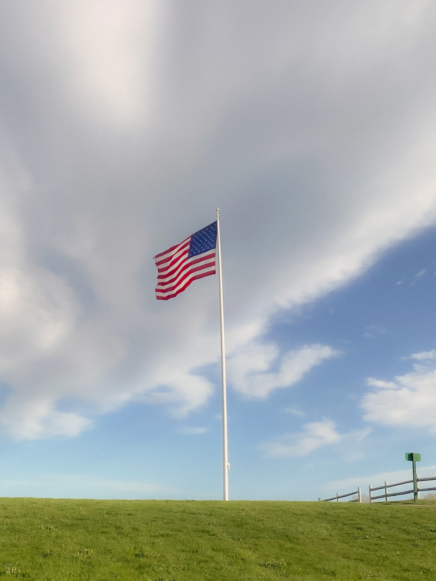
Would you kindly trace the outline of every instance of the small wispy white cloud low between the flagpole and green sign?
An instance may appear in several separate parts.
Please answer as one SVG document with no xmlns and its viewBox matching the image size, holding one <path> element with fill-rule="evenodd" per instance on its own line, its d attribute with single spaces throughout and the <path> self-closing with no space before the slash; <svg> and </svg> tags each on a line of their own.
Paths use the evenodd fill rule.
<svg viewBox="0 0 436 581">
<path fill-rule="evenodd" d="M 343 443 L 345 440 L 348 443 L 358 442 L 369 433 L 370 430 L 365 429 L 339 434 L 333 421 L 323 419 L 321 422 L 305 424 L 302 432 L 285 434 L 272 442 L 262 444 L 260 448 L 273 458 L 294 458 L 306 456 L 324 446 Z"/>
</svg>

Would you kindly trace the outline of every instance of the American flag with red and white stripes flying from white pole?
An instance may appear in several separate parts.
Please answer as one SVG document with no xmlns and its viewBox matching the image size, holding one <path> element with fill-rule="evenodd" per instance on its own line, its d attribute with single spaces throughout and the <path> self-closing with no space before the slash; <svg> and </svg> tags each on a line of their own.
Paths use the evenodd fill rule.
<svg viewBox="0 0 436 581">
<path fill-rule="evenodd" d="M 188 236 L 180 244 L 156 254 L 156 299 L 172 299 L 196 278 L 215 274 L 215 258 L 216 221 Z"/>
</svg>

